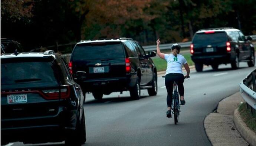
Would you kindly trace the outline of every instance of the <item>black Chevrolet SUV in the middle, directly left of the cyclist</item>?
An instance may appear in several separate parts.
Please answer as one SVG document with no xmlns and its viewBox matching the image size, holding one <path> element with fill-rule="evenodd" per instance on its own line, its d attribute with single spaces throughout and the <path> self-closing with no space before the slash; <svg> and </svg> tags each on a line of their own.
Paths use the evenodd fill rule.
<svg viewBox="0 0 256 146">
<path fill-rule="evenodd" d="M 157 94 L 157 69 L 150 58 L 155 55 L 146 54 L 129 38 L 81 41 L 73 49 L 69 69 L 84 72 L 84 78 L 76 82 L 95 99 L 127 90 L 132 98 L 140 99 L 141 89 L 147 89 L 150 96 Z"/>
</svg>

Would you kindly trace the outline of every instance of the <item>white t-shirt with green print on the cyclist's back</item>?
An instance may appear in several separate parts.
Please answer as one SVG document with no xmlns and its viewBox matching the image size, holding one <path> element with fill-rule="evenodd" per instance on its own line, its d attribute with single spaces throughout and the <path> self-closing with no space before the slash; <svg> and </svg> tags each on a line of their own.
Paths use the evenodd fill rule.
<svg viewBox="0 0 256 146">
<path fill-rule="evenodd" d="M 174 56 L 173 54 L 164 54 L 164 59 L 167 61 L 166 74 L 168 73 L 182 73 L 183 64 L 187 63 L 187 60 L 184 56 L 177 54 Z"/>
</svg>

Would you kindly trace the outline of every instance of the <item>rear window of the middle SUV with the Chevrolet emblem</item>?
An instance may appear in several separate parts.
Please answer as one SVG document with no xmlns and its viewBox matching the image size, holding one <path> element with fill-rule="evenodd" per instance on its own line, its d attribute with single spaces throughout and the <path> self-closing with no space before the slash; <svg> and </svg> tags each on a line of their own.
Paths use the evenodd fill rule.
<svg viewBox="0 0 256 146">
<path fill-rule="evenodd" d="M 72 60 L 123 58 L 124 49 L 121 42 L 98 42 L 77 44 Z"/>
</svg>

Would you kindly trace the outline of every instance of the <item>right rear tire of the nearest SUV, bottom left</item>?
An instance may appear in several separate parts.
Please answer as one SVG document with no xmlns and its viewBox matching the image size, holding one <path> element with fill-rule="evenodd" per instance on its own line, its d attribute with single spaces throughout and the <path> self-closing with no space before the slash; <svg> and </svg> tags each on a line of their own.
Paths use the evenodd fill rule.
<svg viewBox="0 0 256 146">
<path fill-rule="evenodd" d="M 65 139 L 65 146 L 81 146 L 86 142 L 86 127 L 84 110 L 82 112 L 82 120 L 77 120 L 76 129 L 73 133 L 69 132 L 69 136 Z M 78 116 L 79 118 L 79 116 Z"/>
</svg>

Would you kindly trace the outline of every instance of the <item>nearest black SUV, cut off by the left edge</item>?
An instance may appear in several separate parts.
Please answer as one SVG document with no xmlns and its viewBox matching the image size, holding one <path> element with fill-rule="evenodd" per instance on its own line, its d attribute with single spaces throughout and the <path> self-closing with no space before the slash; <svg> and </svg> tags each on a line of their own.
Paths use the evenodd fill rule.
<svg viewBox="0 0 256 146">
<path fill-rule="evenodd" d="M 53 51 L 1 55 L 1 144 L 86 141 L 83 93 Z"/>
</svg>

